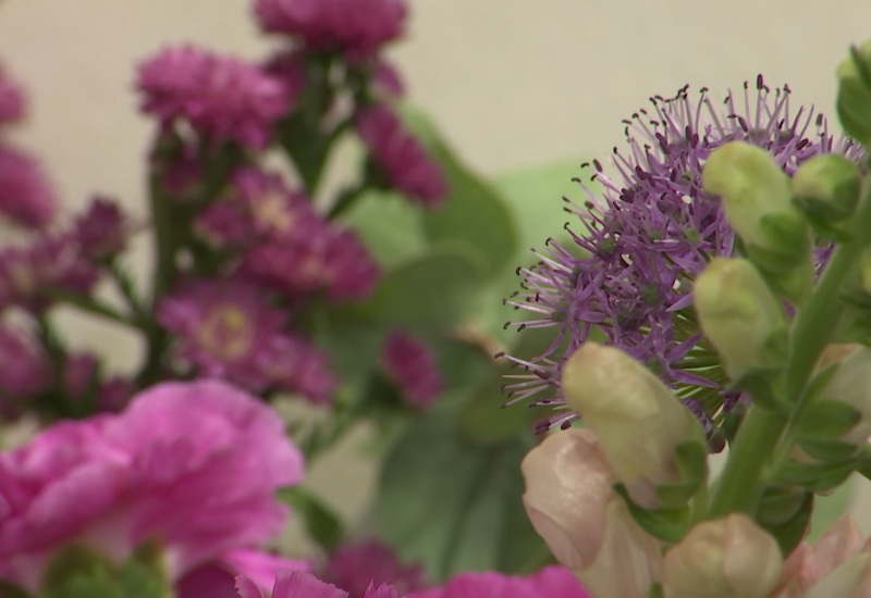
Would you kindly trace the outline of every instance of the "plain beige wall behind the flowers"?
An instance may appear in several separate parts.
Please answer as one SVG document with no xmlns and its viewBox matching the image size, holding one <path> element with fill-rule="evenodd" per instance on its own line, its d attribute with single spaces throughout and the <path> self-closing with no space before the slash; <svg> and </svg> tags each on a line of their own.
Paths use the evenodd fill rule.
<svg viewBox="0 0 871 598">
<path fill-rule="evenodd" d="M 834 68 L 848 42 L 871 36 L 868 0 L 417 0 L 410 13 L 391 52 L 409 97 L 484 174 L 604 158 L 622 141 L 622 119 L 684 84 L 717 97 L 762 73 L 772 87 L 789 84 L 794 105 L 833 115 Z M 30 97 L 30 120 L 14 135 L 65 205 L 99 191 L 144 212 L 151 125 L 136 112 L 134 65 L 186 41 L 252 59 L 270 45 L 248 0 L 0 0 L 0 61 Z M 541 198 L 542 210 L 559 200 Z M 147 267 L 146 252 L 134 261 Z M 84 320 L 72 326 L 119 367 L 135 354 L 132 339 Z M 311 472 L 349 516 L 363 514 L 373 475 L 347 450 Z M 869 498 L 862 483 L 852 510 L 866 530 Z"/>
</svg>

